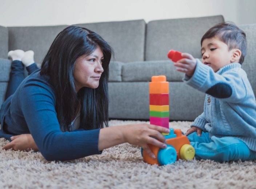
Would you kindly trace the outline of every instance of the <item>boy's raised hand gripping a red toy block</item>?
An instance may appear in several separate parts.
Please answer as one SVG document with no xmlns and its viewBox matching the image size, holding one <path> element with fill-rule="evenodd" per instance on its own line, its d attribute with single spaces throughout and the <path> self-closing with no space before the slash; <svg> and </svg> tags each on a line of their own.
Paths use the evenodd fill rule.
<svg viewBox="0 0 256 189">
<path fill-rule="evenodd" d="M 188 53 L 182 53 L 181 56 L 184 57 L 184 59 L 180 59 L 174 63 L 174 66 L 177 67 L 176 70 L 184 72 L 190 77 L 193 76 L 196 69 L 196 59 Z"/>
</svg>

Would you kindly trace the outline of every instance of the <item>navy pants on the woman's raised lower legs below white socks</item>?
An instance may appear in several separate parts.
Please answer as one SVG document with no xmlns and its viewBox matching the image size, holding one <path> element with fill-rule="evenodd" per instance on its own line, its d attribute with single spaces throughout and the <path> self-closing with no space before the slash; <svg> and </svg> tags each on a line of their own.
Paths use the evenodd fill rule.
<svg viewBox="0 0 256 189">
<path fill-rule="evenodd" d="M 39 68 L 36 66 L 36 63 L 33 63 L 28 67 L 26 67 L 26 69 L 28 71 L 28 75 L 30 75 L 32 72 L 36 71 Z M 13 93 L 15 93 L 16 89 L 19 87 L 23 79 L 24 79 L 24 65 L 19 60 L 12 61 L 10 79 L 7 85 L 7 91 L 5 93 L 5 100 L 9 96 L 11 96 Z"/>
</svg>

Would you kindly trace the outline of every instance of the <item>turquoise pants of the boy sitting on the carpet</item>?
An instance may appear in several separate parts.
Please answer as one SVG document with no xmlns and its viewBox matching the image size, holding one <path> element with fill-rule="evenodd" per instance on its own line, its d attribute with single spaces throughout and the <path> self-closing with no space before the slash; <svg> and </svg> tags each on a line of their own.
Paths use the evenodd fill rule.
<svg viewBox="0 0 256 189">
<path fill-rule="evenodd" d="M 188 135 L 191 145 L 195 148 L 196 159 L 209 159 L 218 162 L 246 161 L 256 159 L 256 152 L 235 137 L 209 137 L 208 132 L 198 136 L 196 132 Z"/>
</svg>

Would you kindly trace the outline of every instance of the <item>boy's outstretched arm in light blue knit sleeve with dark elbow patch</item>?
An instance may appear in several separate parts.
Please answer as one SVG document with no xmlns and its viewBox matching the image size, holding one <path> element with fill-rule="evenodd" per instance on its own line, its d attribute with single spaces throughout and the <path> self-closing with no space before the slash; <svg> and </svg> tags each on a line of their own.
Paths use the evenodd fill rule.
<svg viewBox="0 0 256 189">
<path fill-rule="evenodd" d="M 184 72 L 186 75 L 183 81 L 191 87 L 207 93 L 215 98 L 227 102 L 240 102 L 246 95 L 245 88 L 246 73 L 238 72 L 237 69 L 224 72 L 222 75 L 215 73 L 213 69 L 201 63 L 188 53 L 182 53 L 184 59 L 179 60 L 174 65 L 177 71 Z M 237 67 L 237 63 L 231 63 L 229 67 Z"/>
</svg>

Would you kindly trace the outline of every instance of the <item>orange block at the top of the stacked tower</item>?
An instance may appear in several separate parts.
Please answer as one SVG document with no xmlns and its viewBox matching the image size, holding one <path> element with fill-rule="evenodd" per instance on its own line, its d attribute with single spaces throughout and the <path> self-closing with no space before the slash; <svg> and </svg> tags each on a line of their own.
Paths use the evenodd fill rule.
<svg viewBox="0 0 256 189">
<path fill-rule="evenodd" d="M 169 82 L 166 81 L 166 76 L 153 76 L 149 82 L 149 93 L 162 94 L 169 93 Z"/>
</svg>

